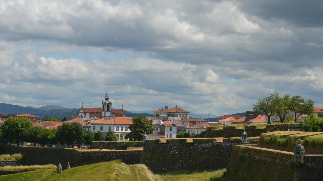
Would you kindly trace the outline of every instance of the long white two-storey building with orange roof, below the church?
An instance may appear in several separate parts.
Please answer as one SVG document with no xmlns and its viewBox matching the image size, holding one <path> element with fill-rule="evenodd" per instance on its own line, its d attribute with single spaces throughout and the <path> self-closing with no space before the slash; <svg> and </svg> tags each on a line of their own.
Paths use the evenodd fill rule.
<svg viewBox="0 0 323 181">
<path fill-rule="evenodd" d="M 130 117 L 106 117 L 95 120 L 91 123 L 91 132 L 95 134 L 101 131 L 103 136 L 111 130 L 118 138 L 118 141 L 127 141 L 125 136 L 130 133 L 129 125 L 131 125 L 133 118 Z"/>
</svg>

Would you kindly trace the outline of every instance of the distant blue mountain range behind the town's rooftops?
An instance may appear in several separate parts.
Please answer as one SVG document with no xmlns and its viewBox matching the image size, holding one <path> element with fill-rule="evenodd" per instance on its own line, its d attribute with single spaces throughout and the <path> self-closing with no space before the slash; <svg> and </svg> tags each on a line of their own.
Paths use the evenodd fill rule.
<svg viewBox="0 0 323 181">
<path fill-rule="evenodd" d="M 125 110 L 126 111 L 126 110 Z M 66 119 L 72 119 L 76 117 L 77 114 L 77 108 L 65 108 L 60 105 L 47 105 L 42 106 L 39 108 L 31 107 L 31 106 L 18 106 L 18 105 L 12 105 L 12 104 L 6 104 L 6 103 L 0 103 L 0 114 L 32 114 L 39 116 L 41 118 L 45 117 L 55 117 L 60 120 L 66 117 Z M 135 115 L 140 116 L 154 116 L 153 111 L 126 111 L 127 117 L 134 117 Z M 245 113 L 235 113 L 234 115 L 240 115 L 244 116 Z M 190 118 L 202 118 L 208 121 L 217 121 L 216 115 L 211 114 L 196 114 L 196 113 L 190 113 Z"/>
</svg>

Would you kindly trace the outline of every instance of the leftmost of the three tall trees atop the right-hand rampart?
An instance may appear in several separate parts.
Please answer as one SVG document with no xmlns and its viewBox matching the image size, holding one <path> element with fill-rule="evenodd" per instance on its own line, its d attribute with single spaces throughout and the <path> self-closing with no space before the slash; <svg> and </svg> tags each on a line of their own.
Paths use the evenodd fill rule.
<svg viewBox="0 0 323 181">
<path fill-rule="evenodd" d="M 280 102 L 279 100 L 279 93 L 275 91 L 274 93 L 268 94 L 267 97 L 253 103 L 255 115 L 265 114 L 268 117 L 268 123 L 271 123 L 271 116 L 276 114 Z"/>
</svg>

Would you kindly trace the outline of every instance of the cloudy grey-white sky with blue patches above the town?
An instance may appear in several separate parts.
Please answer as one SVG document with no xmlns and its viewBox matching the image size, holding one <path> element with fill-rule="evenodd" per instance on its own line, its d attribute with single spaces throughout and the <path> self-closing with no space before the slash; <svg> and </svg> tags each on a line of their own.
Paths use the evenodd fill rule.
<svg viewBox="0 0 323 181">
<path fill-rule="evenodd" d="M 213 115 L 323 106 L 323 1 L 1 1 L 0 103 Z"/>
</svg>

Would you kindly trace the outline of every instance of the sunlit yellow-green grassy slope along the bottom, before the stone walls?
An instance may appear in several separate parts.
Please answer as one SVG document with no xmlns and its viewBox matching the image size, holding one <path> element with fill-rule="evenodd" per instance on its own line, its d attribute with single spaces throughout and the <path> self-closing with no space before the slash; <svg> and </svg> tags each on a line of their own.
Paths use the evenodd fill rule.
<svg viewBox="0 0 323 181">
<path fill-rule="evenodd" d="M 0 176 L 0 180 L 210 180 L 221 177 L 226 170 L 180 174 L 153 175 L 143 164 L 126 165 L 120 161 L 102 162 L 79 166 L 55 173 L 56 169 L 30 171 Z M 119 171 L 119 176 L 116 175 Z"/>
</svg>

